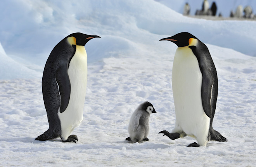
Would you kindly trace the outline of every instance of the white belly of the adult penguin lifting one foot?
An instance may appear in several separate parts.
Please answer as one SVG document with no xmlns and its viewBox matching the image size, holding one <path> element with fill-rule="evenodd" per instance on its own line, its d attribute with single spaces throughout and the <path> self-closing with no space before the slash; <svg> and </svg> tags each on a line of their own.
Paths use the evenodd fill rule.
<svg viewBox="0 0 256 167">
<path fill-rule="evenodd" d="M 189 47 L 176 50 L 172 88 L 176 123 L 173 130 L 194 136 L 199 145 L 206 145 L 210 118 L 204 113 L 201 99 L 202 73 L 197 58 Z"/>
</svg>

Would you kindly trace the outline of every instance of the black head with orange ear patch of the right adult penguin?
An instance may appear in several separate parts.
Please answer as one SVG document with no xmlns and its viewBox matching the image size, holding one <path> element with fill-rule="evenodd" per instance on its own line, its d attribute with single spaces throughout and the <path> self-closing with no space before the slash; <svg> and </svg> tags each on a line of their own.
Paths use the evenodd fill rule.
<svg viewBox="0 0 256 167">
<path fill-rule="evenodd" d="M 190 34 L 189 32 L 180 32 L 172 37 L 163 38 L 160 40 L 170 40 L 171 42 L 175 43 L 178 47 L 189 46 L 193 39 L 197 39 L 194 35 Z M 159 41 L 160 41 L 159 40 Z"/>
</svg>

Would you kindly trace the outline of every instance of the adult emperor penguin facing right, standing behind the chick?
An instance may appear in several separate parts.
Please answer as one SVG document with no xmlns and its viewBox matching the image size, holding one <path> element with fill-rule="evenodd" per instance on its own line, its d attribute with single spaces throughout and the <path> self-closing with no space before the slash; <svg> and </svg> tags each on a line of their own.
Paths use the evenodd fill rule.
<svg viewBox="0 0 256 167">
<path fill-rule="evenodd" d="M 87 54 L 84 46 L 96 37 L 99 36 L 70 34 L 50 53 L 42 78 L 49 129 L 35 140 L 61 137 L 62 142 L 78 141 L 76 135 L 70 134 L 83 120 L 87 83 Z"/>
</svg>

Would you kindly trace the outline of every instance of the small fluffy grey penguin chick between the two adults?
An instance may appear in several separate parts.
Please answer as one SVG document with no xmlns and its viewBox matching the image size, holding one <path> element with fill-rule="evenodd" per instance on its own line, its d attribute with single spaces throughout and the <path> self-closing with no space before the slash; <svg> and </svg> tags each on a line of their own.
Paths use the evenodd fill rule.
<svg viewBox="0 0 256 167">
<path fill-rule="evenodd" d="M 126 138 L 132 143 L 149 141 L 147 135 L 149 135 L 149 116 L 152 113 L 156 113 L 153 105 L 148 101 L 145 101 L 133 112 L 128 126 L 128 132 L 130 137 Z"/>
</svg>

